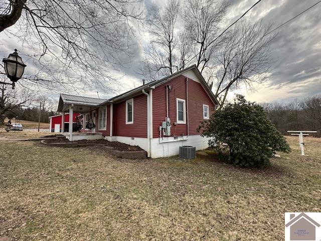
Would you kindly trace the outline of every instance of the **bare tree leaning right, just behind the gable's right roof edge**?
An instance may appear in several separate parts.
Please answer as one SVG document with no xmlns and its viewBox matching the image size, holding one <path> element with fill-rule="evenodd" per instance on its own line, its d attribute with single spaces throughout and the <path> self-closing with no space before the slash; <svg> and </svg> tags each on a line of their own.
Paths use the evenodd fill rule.
<svg viewBox="0 0 321 241">
<path fill-rule="evenodd" d="M 271 25 L 241 21 L 229 32 L 224 47 L 216 58 L 217 77 L 215 95 L 221 108 L 227 93 L 242 84 L 251 87 L 260 82 L 271 64 L 269 46 L 275 35 L 268 35 Z"/>
</svg>

